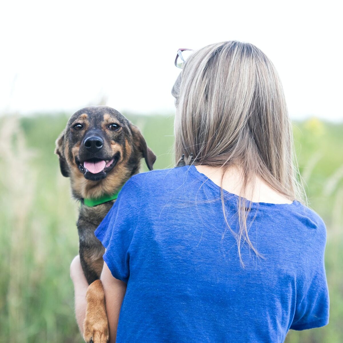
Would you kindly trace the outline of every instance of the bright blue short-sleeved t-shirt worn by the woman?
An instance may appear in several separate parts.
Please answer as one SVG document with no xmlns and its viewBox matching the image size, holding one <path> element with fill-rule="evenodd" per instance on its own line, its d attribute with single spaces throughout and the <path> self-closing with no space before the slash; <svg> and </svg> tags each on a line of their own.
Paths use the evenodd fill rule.
<svg viewBox="0 0 343 343">
<path fill-rule="evenodd" d="M 244 243 L 242 268 L 220 196 L 194 166 L 138 174 L 122 188 L 95 232 L 127 283 L 117 342 L 276 343 L 328 323 L 319 215 L 298 201 L 252 203 L 249 238 L 262 258 Z M 237 199 L 224 191 L 233 230 Z"/>
</svg>

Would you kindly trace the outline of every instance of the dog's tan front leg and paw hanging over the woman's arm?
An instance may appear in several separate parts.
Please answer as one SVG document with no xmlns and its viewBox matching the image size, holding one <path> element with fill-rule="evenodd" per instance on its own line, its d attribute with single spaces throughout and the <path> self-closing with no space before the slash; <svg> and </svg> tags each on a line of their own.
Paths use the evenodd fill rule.
<svg viewBox="0 0 343 343">
<path fill-rule="evenodd" d="M 106 314 L 105 293 L 100 280 L 87 288 L 86 317 L 83 323 L 83 339 L 87 343 L 108 343 L 109 328 Z"/>
</svg>

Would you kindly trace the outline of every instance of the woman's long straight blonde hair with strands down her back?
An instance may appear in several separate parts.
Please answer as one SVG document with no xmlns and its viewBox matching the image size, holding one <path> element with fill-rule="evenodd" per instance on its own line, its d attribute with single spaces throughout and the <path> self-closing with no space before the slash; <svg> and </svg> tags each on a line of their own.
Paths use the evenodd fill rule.
<svg viewBox="0 0 343 343">
<path fill-rule="evenodd" d="M 222 182 L 228 167 L 239 165 L 243 193 L 253 177 L 259 177 L 289 200 L 305 199 L 281 81 L 260 49 L 229 41 L 194 52 L 172 94 L 176 103 L 176 159 L 182 154 L 193 155 L 194 165 L 222 167 Z M 242 238 L 259 256 L 248 237 L 251 202 L 238 197 L 236 233 L 227 222 L 222 188 L 221 199 L 244 266 Z"/>
</svg>

